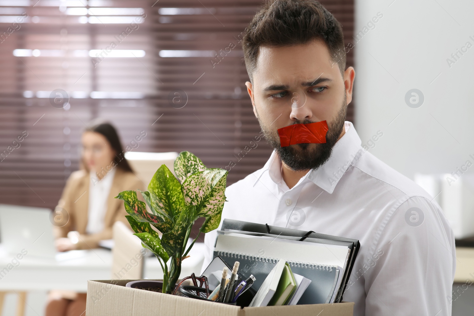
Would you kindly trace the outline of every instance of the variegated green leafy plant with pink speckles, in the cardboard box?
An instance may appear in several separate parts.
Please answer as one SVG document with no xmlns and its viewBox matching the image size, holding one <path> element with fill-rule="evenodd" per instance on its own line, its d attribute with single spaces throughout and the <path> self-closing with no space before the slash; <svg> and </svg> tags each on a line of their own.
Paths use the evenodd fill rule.
<svg viewBox="0 0 474 316">
<path fill-rule="evenodd" d="M 182 152 L 174 160 L 174 173 L 163 164 L 141 192 L 151 213 L 137 192 L 122 191 L 128 223 L 141 239 L 142 246 L 151 250 L 163 269 L 163 293 L 171 293 L 181 273 L 181 263 L 199 234 L 216 229 L 220 223 L 226 196 L 228 172 L 206 168 L 201 159 Z M 186 249 L 194 221 L 205 217 L 198 236 Z M 159 232 L 158 232 L 159 231 Z"/>
</svg>

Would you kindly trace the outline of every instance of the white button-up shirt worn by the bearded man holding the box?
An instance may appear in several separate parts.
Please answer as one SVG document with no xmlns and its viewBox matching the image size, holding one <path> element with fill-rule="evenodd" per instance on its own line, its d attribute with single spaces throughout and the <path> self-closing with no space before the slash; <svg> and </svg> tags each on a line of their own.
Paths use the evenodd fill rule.
<svg viewBox="0 0 474 316">
<path fill-rule="evenodd" d="M 350 122 L 331 159 L 289 189 L 273 152 L 264 167 L 226 189 L 222 219 L 358 239 L 343 301 L 354 316 L 451 315 L 453 232 L 439 205 L 361 147 Z M 393 150 L 398 150 L 394 148 Z M 216 230 L 206 234 L 212 259 Z"/>
</svg>

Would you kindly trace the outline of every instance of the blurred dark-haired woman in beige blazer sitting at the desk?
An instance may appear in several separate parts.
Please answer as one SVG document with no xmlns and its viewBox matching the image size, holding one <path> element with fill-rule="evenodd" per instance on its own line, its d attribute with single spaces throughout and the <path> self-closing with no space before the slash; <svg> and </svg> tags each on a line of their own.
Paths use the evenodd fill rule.
<svg viewBox="0 0 474 316">
<path fill-rule="evenodd" d="M 112 125 L 99 123 L 87 128 L 81 143 L 82 169 L 71 174 L 55 208 L 55 215 L 65 222 L 55 227 L 58 251 L 97 248 L 100 240 L 111 239 L 116 221 L 128 225 L 124 203 L 114 197 L 124 190 L 144 190 L 144 183 L 123 156 Z M 77 231 L 77 238 L 67 238 L 70 231 Z M 45 314 L 85 315 L 85 303 L 85 293 L 51 291 Z"/>
</svg>

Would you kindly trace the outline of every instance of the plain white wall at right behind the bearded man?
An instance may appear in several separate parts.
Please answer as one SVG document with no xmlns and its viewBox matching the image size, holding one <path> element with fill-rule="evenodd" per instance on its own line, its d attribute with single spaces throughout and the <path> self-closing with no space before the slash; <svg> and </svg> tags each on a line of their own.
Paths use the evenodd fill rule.
<svg viewBox="0 0 474 316">
<path fill-rule="evenodd" d="M 411 179 L 456 171 L 474 163 L 474 1 L 392 1 L 356 0 L 355 33 L 383 14 L 352 48 L 357 132 L 364 144 L 382 131 L 370 152 Z M 410 89 L 424 94 L 421 107 L 405 103 Z"/>
</svg>

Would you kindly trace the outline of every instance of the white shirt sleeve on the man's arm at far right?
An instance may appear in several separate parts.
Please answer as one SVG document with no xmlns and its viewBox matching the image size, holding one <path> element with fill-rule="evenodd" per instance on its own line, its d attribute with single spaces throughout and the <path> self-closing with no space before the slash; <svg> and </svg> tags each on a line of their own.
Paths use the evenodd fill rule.
<svg viewBox="0 0 474 316">
<path fill-rule="evenodd" d="M 365 315 L 451 315 L 453 231 L 436 202 L 413 197 L 389 212 L 369 253 Z"/>
</svg>

